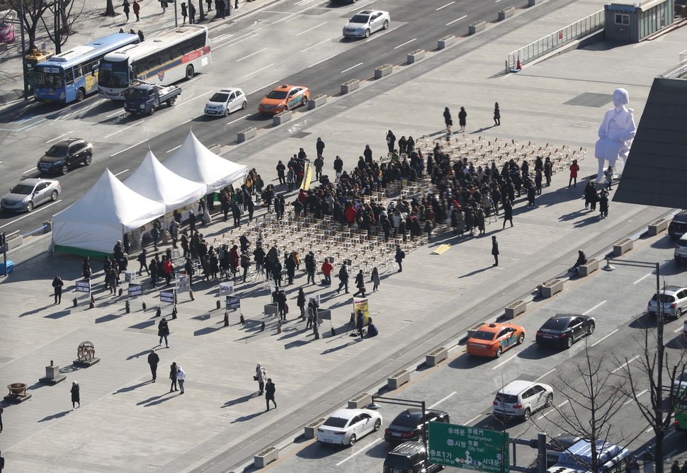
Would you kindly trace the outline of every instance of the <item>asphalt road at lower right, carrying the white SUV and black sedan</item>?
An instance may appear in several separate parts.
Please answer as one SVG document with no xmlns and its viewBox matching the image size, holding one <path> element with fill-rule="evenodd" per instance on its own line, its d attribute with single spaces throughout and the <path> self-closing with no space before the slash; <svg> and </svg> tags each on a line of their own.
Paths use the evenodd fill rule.
<svg viewBox="0 0 687 473">
<path fill-rule="evenodd" d="M 640 249 L 635 245 L 632 259 L 658 261 L 661 266 L 662 284 L 684 284 L 684 268 L 672 261 L 672 241 L 664 236 L 654 244 Z M 597 401 L 606 399 L 609 391 L 619 392 L 619 399 L 611 411 L 608 441 L 625 445 L 633 452 L 643 452 L 654 445 L 654 433 L 641 416 L 635 401 L 619 389 L 627 379 L 625 366 L 635 377 L 636 392 L 642 403 L 649 405 L 647 376 L 642 370 L 642 341 L 644 328 L 655 339 L 655 317 L 645 314 L 647 301 L 656 288 L 656 275 L 649 266 L 630 266 L 615 263 L 612 272 L 599 272 L 591 278 L 571 283 L 571 290 L 560 296 L 528 306 L 528 312 L 513 323 L 526 329 L 526 341 L 522 346 L 506 351 L 499 359 L 477 358 L 465 353 L 460 345 L 450 351 L 449 359 L 439 367 L 427 368 L 414 374 L 411 383 L 393 392 L 397 399 L 425 401 L 428 408 L 442 409 L 451 416 L 451 423 L 492 430 L 506 429 L 511 438 L 533 439 L 538 432 L 549 438 L 560 433 L 575 433 L 563 417 L 579 418 L 586 423 L 591 412 L 581 408 L 587 388 L 579 375 L 586 370 L 585 346 L 589 358 L 601 360 L 600 391 Z M 530 309 L 534 307 L 534 309 Z M 535 343 L 535 333 L 543 322 L 557 313 L 578 313 L 595 317 L 596 331 L 589 338 L 578 341 L 569 350 L 540 348 Z M 666 353 L 669 364 L 677 364 L 686 348 L 682 335 L 682 319 L 669 321 L 664 329 Z M 582 366 L 579 368 L 579 366 Z M 538 412 L 530 421 L 509 421 L 505 425 L 492 415 L 492 400 L 496 392 L 512 380 L 530 380 L 554 387 L 554 407 Z M 669 381 L 664 377 L 664 384 Z M 382 393 L 382 395 L 384 395 Z M 576 401 L 577 400 L 577 401 Z M 281 460 L 268 467 L 272 472 L 374 472 L 381 471 L 387 452 L 393 446 L 384 440 L 384 428 L 404 408 L 380 404 L 382 428 L 358 440 L 352 448 L 336 448 L 314 440 L 300 440 L 280 455 Z M 598 412 L 603 411 L 599 408 Z M 574 415 L 573 415 L 574 412 Z M 597 416 L 598 416 L 597 412 Z M 687 434 L 670 431 L 664 447 L 664 461 L 669 465 L 674 458 L 684 458 L 687 453 Z M 529 466 L 536 461 L 536 450 L 524 445 L 517 447 L 517 465 Z M 512 454 L 511 454 L 512 459 Z M 512 463 L 512 460 L 511 460 Z"/>
</svg>

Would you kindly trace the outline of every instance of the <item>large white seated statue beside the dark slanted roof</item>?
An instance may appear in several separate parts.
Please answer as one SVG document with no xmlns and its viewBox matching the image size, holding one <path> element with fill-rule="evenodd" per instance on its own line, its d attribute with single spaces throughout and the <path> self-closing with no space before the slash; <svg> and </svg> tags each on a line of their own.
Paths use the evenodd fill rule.
<svg viewBox="0 0 687 473">
<path fill-rule="evenodd" d="M 625 89 L 615 89 L 613 92 L 613 105 L 603 116 L 603 122 L 598 127 L 598 141 L 594 149 L 594 156 L 598 159 L 598 173 L 596 181 L 603 180 L 603 171 L 608 166 L 615 169 L 615 161 L 620 158 L 628 159 L 632 139 L 635 137 L 637 127 L 632 108 L 627 108 L 630 103 L 630 94 Z"/>
</svg>

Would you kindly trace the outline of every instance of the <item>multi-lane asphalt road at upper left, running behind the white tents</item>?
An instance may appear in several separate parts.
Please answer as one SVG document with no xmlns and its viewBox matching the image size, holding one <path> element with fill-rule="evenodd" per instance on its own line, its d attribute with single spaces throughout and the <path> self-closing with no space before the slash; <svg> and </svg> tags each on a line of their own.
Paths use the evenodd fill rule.
<svg viewBox="0 0 687 473">
<path fill-rule="evenodd" d="M 428 0 L 421 6 L 410 0 L 375 0 L 353 5 L 283 1 L 232 25 L 213 29 L 212 67 L 181 83 L 181 100 L 172 109 L 159 110 L 154 117 L 129 116 L 121 103 L 97 96 L 64 107 L 21 103 L 5 108 L 0 127 L 11 132 L 3 144 L 0 189 L 11 188 L 21 178 L 38 176 L 35 162 L 59 139 L 85 137 L 93 142 L 95 152 L 91 166 L 59 177 L 63 193 L 56 203 L 25 215 L 0 212 L 0 231 L 27 234 L 38 229 L 42 222 L 78 200 L 106 168 L 121 179 L 126 178 L 148 149 L 164 161 L 190 128 L 205 144 L 228 144 L 235 142 L 237 132 L 247 126 L 271 127 L 271 117 L 255 110 L 274 84 L 303 84 L 310 87 L 313 96 L 336 95 L 340 84 L 348 79 L 368 79 L 381 64 L 404 64 L 411 50 L 431 50 L 438 38 L 467 35 L 470 23 L 496 21 L 497 11 L 502 8 L 525 4 L 522 0 Z M 344 39 L 341 28 L 353 13 L 363 8 L 390 11 L 390 29 L 365 40 Z M 220 85 L 240 86 L 246 91 L 246 113 L 220 119 L 202 115 L 205 100 Z M 301 108 L 297 113 L 307 111 Z M 291 151 L 287 150 L 285 156 Z M 254 160 L 250 162 L 251 167 L 256 166 Z M 260 166 L 258 169 L 266 171 Z"/>
</svg>

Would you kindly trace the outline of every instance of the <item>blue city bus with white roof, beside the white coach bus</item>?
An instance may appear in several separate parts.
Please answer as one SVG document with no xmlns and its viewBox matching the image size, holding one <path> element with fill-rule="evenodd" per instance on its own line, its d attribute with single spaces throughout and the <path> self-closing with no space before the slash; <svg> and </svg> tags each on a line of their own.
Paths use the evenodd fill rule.
<svg viewBox="0 0 687 473">
<path fill-rule="evenodd" d="M 140 42 L 138 35 L 113 33 L 55 55 L 33 67 L 35 99 L 71 103 L 98 91 L 98 70 L 103 57 L 120 47 Z"/>
</svg>

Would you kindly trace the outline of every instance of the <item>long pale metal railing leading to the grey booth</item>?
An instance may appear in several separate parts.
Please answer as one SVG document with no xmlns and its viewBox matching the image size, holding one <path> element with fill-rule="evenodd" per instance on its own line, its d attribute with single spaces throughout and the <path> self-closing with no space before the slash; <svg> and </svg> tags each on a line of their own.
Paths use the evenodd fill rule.
<svg viewBox="0 0 687 473">
<path fill-rule="evenodd" d="M 506 56 L 506 72 L 517 69 L 518 59 L 520 59 L 521 64 L 526 64 L 563 45 L 567 45 L 569 42 L 579 40 L 579 38 L 589 35 L 589 33 L 602 30 L 605 23 L 604 20 L 605 13 L 603 10 L 599 10 L 593 15 L 572 23 L 572 25 L 567 25 L 562 30 L 555 31 L 540 40 L 530 42 L 530 44 L 521 47 L 517 51 L 511 52 L 511 54 Z"/>
</svg>

